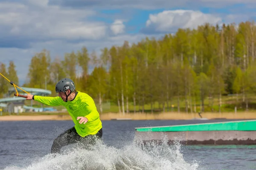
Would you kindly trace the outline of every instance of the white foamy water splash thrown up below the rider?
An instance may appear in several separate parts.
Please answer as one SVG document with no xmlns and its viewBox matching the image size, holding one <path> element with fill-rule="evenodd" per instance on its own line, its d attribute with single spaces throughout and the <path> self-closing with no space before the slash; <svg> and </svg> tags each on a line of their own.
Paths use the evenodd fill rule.
<svg viewBox="0 0 256 170">
<path fill-rule="evenodd" d="M 91 150 L 75 145 L 55 157 L 48 154 L 29 166 L 5 170 L 198 170 L 198 163 L 187 163 L 180 144 L 138 144 L 121 149 L 97 143 Z"/>
</svg>

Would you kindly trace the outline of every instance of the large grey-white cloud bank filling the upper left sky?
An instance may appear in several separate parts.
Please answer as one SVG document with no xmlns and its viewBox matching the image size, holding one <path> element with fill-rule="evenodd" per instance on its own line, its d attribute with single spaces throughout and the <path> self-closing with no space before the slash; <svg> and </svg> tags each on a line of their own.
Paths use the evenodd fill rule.
<svg viewBox="0 0 256 170">
<path fill-rule="evenodd" d="M 108 26 L 87 21 L 92 10 L 47 6 L 47 1 L 33 1 L 40 6 L 0 3 L 0 34 L 36 39 L 99 39 L 105 37 Z"/>
</svg>

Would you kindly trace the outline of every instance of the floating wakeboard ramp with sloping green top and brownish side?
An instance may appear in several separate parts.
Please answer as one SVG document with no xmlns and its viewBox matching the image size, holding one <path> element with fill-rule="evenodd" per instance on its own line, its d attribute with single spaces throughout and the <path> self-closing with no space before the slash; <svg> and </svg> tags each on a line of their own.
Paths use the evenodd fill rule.
<svg viewBox="0 0 256 170">
<path fill-rule="evenodd" d="M 256 120 L 136 127 L 135 139 L 143 142 L 182 144 L 256 144 Z"/>
</svg>

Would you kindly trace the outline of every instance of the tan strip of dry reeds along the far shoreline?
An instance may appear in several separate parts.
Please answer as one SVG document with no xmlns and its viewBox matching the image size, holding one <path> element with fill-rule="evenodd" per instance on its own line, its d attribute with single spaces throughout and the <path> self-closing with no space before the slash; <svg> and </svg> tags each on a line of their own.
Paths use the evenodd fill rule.
<svg viewBox="0 0 256 170">
<path fill-rule="evenodd" d="M 256 112 L 241 113 L 201 113 L 203 119 L 256 119 Z M 198 113 L 104 113 L 101 120 L 191 120 L 201 119 Z M 0 121 L 41 121 L 41 120 L 72 120 L 67 115 L 7 115 L 0 116 Z"/>
</svg>

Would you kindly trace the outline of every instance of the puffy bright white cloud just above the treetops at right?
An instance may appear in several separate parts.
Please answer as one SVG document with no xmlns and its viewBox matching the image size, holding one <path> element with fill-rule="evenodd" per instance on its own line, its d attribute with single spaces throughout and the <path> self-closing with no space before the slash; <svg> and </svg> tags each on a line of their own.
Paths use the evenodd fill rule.
<svg viewBox="0 0 256 170">
<path fill-rule="evenodd" d="M 204 23 L 221 23 L 221 17 L 192 10 L 163 11 L 149 15 L 144 31 L 171 32 L 177 28 L 197 28 Z"/>
</svg>

